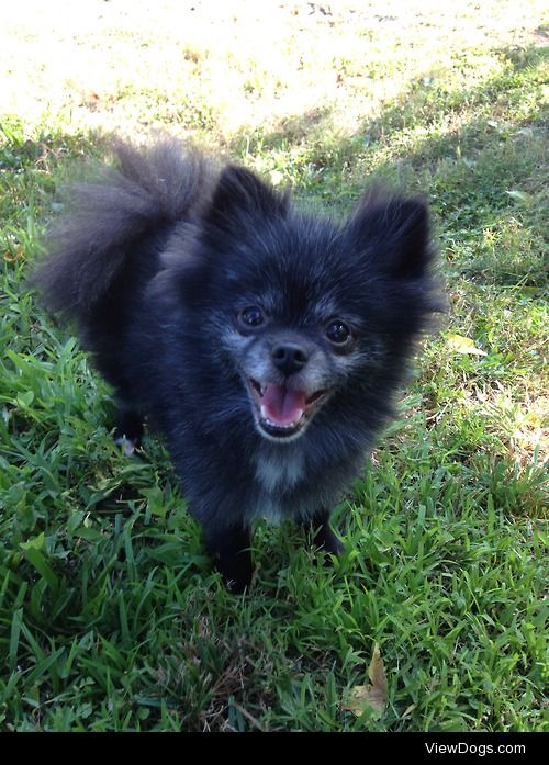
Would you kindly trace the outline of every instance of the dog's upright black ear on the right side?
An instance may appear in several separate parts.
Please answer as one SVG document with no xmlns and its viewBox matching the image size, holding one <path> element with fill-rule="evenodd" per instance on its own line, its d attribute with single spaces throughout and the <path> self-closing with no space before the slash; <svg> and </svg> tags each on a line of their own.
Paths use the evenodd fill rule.
<svg viewBox="0 0 549 765">
<path fill-rule="evenodd" d="M 348 234 L 371 266 L 393 279 L 421 279 L 435 257 L 429 212 L 419 198 L 363 198 L 350 218 Z"/>
</svg>

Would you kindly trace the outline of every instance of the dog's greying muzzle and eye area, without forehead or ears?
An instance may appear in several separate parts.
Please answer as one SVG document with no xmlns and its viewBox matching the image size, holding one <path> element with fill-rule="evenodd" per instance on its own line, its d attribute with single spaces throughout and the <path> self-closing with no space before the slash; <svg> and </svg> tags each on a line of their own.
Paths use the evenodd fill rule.
<svg viewBox="0 0 549 765">
<path fill-rule="evenodd" d="M 318 304 L 310 307 L 311 315 Z M 261 436 L 277 442 L 299 438 L 337 396 L 349 372 L 363 363 L 357 324 L 329 313 L 290 323 L 283 295 L 276 290 L 259 293 L 235 312 L 222 342 L 240 374 Z"/>
</svg>

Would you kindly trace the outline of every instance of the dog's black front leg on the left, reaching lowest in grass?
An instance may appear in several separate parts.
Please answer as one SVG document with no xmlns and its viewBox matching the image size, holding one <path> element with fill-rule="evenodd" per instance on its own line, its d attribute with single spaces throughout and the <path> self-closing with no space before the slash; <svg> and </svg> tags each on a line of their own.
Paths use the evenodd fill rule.
<svg viewBox="0 0 549 765">
<path fill-rule="evenodd" d="M 243 593 L 251 583 L 254 573 L 249 528 L 204 529 L 204 543 L 228 589 Z"/>
</svg>

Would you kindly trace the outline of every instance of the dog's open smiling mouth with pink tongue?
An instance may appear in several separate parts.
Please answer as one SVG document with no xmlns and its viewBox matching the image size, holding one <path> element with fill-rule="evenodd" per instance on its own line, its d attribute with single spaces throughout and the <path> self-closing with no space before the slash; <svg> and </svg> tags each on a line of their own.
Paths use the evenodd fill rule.
<svg viewBox="0 0 549 765">
<path fill-rule="evenodd" d="M 248 385 L 260 429 L 281 439 L 298 435 L 327 394 L 322 390 L 307 396 L 304 391 L 261 384 L 254 378 L 248 378 Z"/>
</svg>

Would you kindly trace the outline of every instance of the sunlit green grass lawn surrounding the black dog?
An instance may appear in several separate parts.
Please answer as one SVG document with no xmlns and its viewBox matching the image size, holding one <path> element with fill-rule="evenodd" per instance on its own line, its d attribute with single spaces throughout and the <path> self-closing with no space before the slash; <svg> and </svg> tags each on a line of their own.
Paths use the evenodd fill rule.
<svg viewBox="0 0 549 765">
<path fill-rule="evenodd" d="M 536 1 L 393 4 L 277 4 L 269 30 L 247 5 L 180 37 L 139 3 L 8 19 L 0 730 L 548 729 L 547 23 Z M 25 288 L 59 181 L 115 126 L 191 133 L 306 205 L 379 180 L 430 201 L 450 315 L 336 508 L 334 570 L 261 525 L 251 592 L 227 594 L 163 446 L 120 453 L 110 391 Z M 388 705 L 357 719 L 376 644 Z"/>
</svg>

